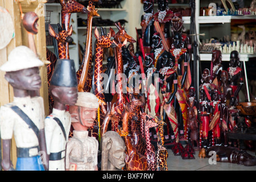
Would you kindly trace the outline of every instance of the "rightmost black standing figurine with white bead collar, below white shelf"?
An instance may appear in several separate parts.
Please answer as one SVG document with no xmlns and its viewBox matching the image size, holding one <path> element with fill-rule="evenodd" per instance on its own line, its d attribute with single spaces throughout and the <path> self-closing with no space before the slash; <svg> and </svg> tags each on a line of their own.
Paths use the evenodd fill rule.
<svg viewBox="0 0 256 182">
<path fill-rule="evenodd" d="M 232 51 L 230 53 L 230 61 L 229 61 L 229 78 L 230 82 L 229 85 L 233 89 L 234 96 L 237 97 L 239 102 L 239 92 L 243 86 L 243 72 L 242 69 L 239 67 L 240 65 L 240 58 L 239 53 L 237 51 Z"/>
</svg>

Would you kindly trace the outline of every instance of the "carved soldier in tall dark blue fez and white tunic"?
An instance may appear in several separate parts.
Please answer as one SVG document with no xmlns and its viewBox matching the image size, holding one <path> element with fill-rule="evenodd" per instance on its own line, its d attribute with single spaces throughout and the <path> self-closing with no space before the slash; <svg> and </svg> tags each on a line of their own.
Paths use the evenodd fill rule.
<svg viewBox="0 0 256 182">
<path fill-rule="evenodd" d="M 45 119 L 49 171 L 65 171 L 65 148 L 71 128 L 71 115 L 65 106 L 77 101 L 75 63 L 69 59 L 57 60 L 49 92 L 54 100 L 51 115 Z"/>
</svg>

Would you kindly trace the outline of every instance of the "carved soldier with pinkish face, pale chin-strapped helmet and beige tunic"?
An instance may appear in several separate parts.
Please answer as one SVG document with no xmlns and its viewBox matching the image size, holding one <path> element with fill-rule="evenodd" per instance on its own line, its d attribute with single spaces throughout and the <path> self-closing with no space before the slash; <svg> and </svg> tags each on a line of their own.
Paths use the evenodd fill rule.
<svg viewBox="0 0 256 182">
<path fill-rule="evenodd" d="M 67 143 L 66 169 L 69 171 L 97 171 L 98 140 L 89 137 L 89 127 L 97 116 L 97 97 L 89 92 L 79 92 L 75 105 L 69 107 L 73 137 Z"/>
</svg>

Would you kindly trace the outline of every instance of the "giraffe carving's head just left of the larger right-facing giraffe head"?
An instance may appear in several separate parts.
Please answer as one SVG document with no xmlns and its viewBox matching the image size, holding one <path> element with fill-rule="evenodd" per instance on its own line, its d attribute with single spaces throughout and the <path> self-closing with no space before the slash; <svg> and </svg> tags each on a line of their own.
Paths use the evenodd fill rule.
<svg viewBox="0 0 256 182">
<path fill-rule="evenodd" d="M 115 48 L 117 45 L 113 42 L 113 40 L 110 40 L 111 37 L 113 37 L 114 32 L 109 31 L 108 34 L 106 34 L 106 28 L 101 27 L 101 35 L 98 32 L 98 28 L 95 27 L 94 29 L 94 36 L 97 39 L 97 44 L 100 45 L 101 47 L 106 47 L 106 48 Z"/>
</svg>

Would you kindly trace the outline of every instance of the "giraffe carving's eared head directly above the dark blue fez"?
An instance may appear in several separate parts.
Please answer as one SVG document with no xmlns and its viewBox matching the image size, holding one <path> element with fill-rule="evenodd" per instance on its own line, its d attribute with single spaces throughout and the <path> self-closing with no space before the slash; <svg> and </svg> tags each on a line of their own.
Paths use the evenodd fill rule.
<svg viewBox="0 0 256 182">
<path fill-rule="evenodd" d="M 71 42 L 71 35 L 72 35 L 72 25 L 70 26 L 69 30 L 63 30 L 63 28 L 61 28 L 60 24 L 58 23 L 58 29 L 59 29 L 59 33 L 57 34 L 56 31 L 53 29 L 53 27 L 51 26 L 51 24 L 49 24 L 49 34 L 51 36 L 53 36 L 53 38 L 55 38 L 58 42 L 61 43 L 66 43 L 66 42 Z"/>
</svg>

